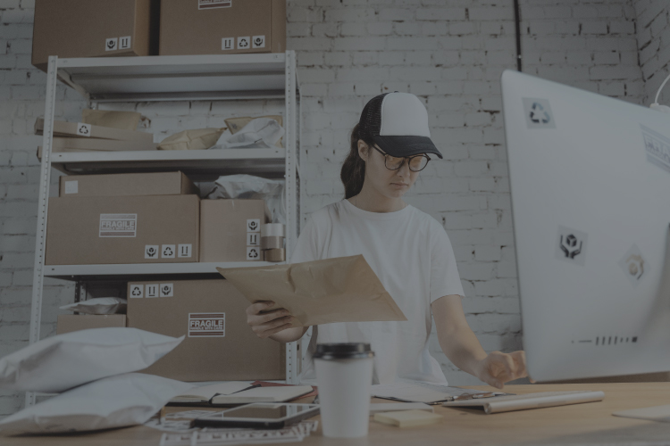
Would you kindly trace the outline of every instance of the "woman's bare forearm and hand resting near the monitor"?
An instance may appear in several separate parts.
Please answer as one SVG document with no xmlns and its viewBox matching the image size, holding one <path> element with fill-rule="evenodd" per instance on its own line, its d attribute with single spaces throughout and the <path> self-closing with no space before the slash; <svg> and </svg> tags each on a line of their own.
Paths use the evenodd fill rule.
<svg viewBox="0 0 670 446">
<path fill-rule="evenodd" d="M 528 376 L 523 351 L 492 351 L 486 354 L 465 320 L 461 296 L 452 294 L 440 297 L 432 302 L 431 310 L 440 347 L 457 368 L 499 389 L 507 381 Z"/>
</svg>

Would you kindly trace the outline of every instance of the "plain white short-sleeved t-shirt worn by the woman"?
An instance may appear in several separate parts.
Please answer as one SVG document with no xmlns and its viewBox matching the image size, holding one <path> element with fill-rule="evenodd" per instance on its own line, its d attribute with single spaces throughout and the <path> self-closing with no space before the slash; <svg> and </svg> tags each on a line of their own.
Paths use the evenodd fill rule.
<svg viewBox="0 0 670 446">
<path fill-rule="evenodd" d="M 446 383 L 440 364 L 428 352 L 431 303 L 464 292 L 444 228 L 414 206 L 379 213 L 342 200 L 312 214 L 290 262 L 357 254 L 363 254 L 407 320 L 314 326 L 301 381 L 315 382 L 316 343 L 363 342 L 374 351 L 373 384 L 401 378 Z"/>
</svg>

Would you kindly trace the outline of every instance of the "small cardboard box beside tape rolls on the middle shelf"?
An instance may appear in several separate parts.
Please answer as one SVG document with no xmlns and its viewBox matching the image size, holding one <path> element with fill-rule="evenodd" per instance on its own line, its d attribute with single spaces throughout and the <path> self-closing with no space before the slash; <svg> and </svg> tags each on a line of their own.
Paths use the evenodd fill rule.
<svg viewBox="0 0 670 446">
<path fill-rule="evenodd" d="M 200 202 L 200 261 L 259 261 L 261 225 L 270 221 L 264 200 Z"/>
</svg>

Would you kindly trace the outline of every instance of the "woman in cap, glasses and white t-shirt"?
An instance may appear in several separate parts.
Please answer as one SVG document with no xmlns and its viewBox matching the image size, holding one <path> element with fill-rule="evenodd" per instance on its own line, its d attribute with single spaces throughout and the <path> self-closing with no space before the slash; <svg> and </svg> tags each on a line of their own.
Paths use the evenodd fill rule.
<svg viewBox="0 0 670 446">
<path fill-rule="evenodd" d="M 373 384 L 398 379 L 446 384 L 428 351 L 432 313 L 448 359 L 502 389 L 527 376 L 523 351 L 486 354 L 465 320 L 463 287 L 444 228 L 402 200 L 430 154 L 442 158 L 431 142 L 428 113 L 415 95 L 387 93 L 365 105 L 341 170 L 345 200 L 312 214 L 291 262 L 363 254 L 407 320 L 314 326 L 310 359 L 317 342 L 371 343 Z M 271 305 L 248 307 L 247 322 L 255 334 L 281 343 L 300 339 L 307 327 L 289 327 L 287 310 L 262 313 Z M 314 380 L 311 360 L 304 369 L 303 381 Z"/>
</svg>

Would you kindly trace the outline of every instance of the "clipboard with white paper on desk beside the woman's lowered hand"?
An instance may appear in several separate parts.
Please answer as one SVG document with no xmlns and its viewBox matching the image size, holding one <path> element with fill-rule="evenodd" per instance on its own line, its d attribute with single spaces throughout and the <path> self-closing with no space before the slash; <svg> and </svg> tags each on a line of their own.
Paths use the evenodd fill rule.
<svg viewBox="0 0 670 446">
<path fill-rule="evenodd" d="M 465 394 L 506 395 L 507 393 L 461 389 L 460 387 L 423 383 L 422 381 L 396 381 L 390 384 L 375 384 L 372 388 L 372 395 L 377 398 L 404 402 L 423 402 L 425 404 L 452 401 L 457 396 Z"/>
</svg>

